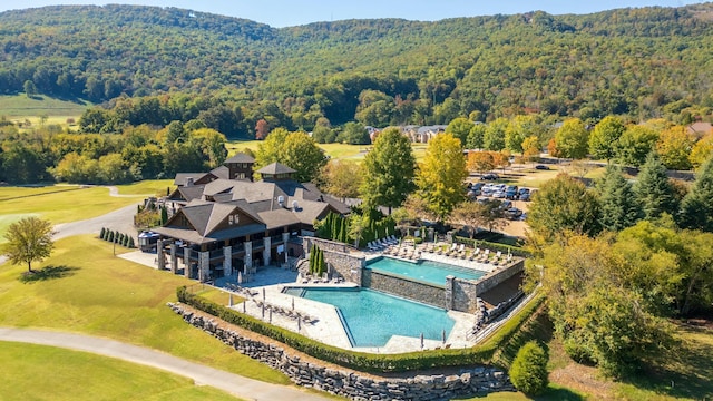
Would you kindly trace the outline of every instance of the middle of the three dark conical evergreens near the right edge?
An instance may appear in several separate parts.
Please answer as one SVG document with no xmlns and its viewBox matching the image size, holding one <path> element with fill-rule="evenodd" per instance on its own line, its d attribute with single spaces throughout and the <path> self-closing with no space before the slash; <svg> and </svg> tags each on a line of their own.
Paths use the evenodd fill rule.
<svg viewBox="0 0 713 401">
<path fill-rule="evenodd" d="M 654 221 L 664 213 L 672 216 L 676 214 L 678 202 L 674 188 L 668 182 L 666 167 L 655 153 L 646 156 L 646 163 L 636 178 L 634 194 L 645 219 Z"/>
</svg>

